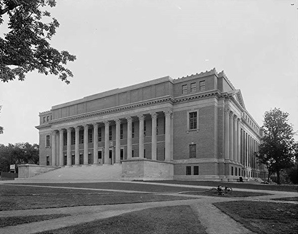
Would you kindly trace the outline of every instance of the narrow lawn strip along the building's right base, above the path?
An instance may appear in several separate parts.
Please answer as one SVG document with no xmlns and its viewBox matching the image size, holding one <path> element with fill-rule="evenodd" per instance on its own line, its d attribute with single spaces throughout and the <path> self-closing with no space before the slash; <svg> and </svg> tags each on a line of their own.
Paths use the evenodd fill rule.
<svg viewBox="0 0 298 234">
<path fill-rule="evenodd" d="M 257 189 L 257 190 L 270 190 L 270 191 L 284 191 L 284 192 L 298 192 L 298 185 L 263 185 L 263 184 L 249 184 L 249 183 L 228 183 L 228 182 L 215 182 L 215 181 L 144 181 L 148 183 L 166 183 L 177 185 L 199 185 L 217 187 L 228 186 L 238 189 Z"/>
</svg>

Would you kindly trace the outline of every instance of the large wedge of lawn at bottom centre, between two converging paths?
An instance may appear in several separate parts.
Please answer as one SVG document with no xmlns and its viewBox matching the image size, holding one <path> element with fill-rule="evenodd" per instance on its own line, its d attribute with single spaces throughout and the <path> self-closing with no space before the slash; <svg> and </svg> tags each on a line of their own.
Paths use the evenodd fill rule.
<svg viewBox="0 0 298 234">
<path fill-rule="evenodd" d="M 134 211 L 110 218 L 39 233 L 206 234 L 206 231 L 189 206 L 167 206 Z"/>
</svg>

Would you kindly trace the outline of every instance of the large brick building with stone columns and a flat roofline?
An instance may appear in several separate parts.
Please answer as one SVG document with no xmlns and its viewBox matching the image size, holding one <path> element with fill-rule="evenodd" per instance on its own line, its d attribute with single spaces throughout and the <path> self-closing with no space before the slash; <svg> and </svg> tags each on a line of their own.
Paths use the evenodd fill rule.
<svg viewBox="0 0 298 234">
<path fill-rule="evenodd" d="M 120 166 L 131 180 L 260 177 L 253 152 L 262 131 L 216 69 L 83 97 L 39 117 L 40 165 Z"/>
</svg>

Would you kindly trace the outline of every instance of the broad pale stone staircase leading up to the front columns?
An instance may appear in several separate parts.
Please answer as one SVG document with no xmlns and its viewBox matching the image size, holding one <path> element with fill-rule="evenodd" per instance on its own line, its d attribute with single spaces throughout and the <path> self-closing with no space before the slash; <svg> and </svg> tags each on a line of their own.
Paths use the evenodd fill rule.
<svg viewBox="0 0 298 234">
<path fill-rule="evenodd" d="M 122 180 L 121 165 L 71 166 L 50 170 L 29 178 L 18 180 Z"/>
</svg>

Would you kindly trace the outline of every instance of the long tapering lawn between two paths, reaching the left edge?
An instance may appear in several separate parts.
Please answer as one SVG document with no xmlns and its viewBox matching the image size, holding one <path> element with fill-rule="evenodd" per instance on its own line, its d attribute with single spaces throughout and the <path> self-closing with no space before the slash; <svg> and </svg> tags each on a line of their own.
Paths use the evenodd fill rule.
<svg viewBox="0 0 298 234">
<path fill-rule="evenodd" d="M 124 203 L 140 203 L 155 201 L 172 201 L 194 199 L 190 197 L 178 197 L 154 194 L 67 194 L 67 195 L 16 195 L 1 196 L 0 210 L 22 210 L 38 208 L 56 208 L 71 206 L 95 206 Z"/>
</svg>

